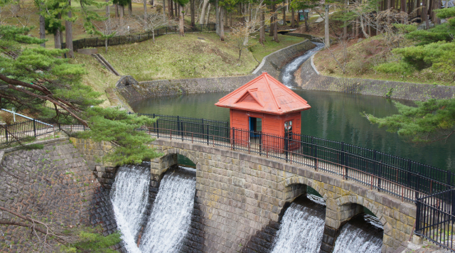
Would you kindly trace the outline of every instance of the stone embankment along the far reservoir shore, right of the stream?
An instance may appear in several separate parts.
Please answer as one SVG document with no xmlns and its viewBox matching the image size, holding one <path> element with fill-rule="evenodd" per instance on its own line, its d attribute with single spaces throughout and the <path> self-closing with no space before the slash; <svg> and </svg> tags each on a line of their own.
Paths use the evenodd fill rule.
<svg viewBox="0 0 455 253">
<path fill-rule="evenodd" d="M 455 97 L 454 86 L 422 85 L 411 82 L 393 82 L 360 78 L 320 75 L 311 60 L 301 65 L 294 75 L 304 90 L 328 90 L 397 99 L 427 100 Z"/>
</svg>

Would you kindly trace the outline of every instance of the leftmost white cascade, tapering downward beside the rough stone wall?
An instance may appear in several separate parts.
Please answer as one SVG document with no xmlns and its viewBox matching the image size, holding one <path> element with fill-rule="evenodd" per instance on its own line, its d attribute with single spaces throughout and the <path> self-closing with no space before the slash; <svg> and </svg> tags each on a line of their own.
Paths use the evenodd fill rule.
<svg viewBox="0 0 455 253">
<path fill-rule="evenodd" d="M 125 248 L 130 253 L 140 252 L 135 237 L 149 199 L 150 171 L 139 166 L 122 166 L 117 171 L 111 190 L 117 227 L 122 232 Z"/>
</svg>

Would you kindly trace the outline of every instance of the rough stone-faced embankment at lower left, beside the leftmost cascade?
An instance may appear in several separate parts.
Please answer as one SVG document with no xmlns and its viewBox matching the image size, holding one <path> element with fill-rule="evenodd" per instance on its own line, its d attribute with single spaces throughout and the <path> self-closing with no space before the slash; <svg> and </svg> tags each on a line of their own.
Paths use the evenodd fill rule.
<svg viewBox="0 0 455 253">
<path fill-rule="evenodd" d="M 0 205 L 59 229 L 102 225 L 113 231 L 115 223 L 103 214 L 108 213 L 103 189 L 68 138 L 36 143 L 44 149 L 0 151 Z M 1 211 L 0 219 L 23 222 Z M 0 252 L 34 252 L 40 244 L 30 233 L 0 225 Z"/>
</svg>

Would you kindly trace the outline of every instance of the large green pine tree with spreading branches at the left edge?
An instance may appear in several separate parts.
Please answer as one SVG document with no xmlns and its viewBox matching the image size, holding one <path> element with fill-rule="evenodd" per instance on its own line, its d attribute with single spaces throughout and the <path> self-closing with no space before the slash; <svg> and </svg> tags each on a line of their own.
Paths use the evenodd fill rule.
<svg viewBox="0 0 455 253">
<path fill-rule="evenodd" d="M 94 141 L 111 141 L 112 154 L 105 161 L 116 165 L 140 163 L 158 156 L 149 149 L 152 139 L 143 131 L 135 131 L 154 119 L 137 117 L 119 109 L 97 107 L 100 93 L 81 82 L 85 69 L 61 58 L 68 50 L 45 49 L 26 45 L 43 40 L 26 36 L 31 28 L 0 26 L 0 106 L 27 110 L 55 124 L 75 122 L 90 128 L 81 136 Z M 49 108 L 48 105 L 52 105 Z M 119 157 L 121 156 L 121 157 Z"/>
</svg>

